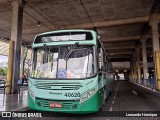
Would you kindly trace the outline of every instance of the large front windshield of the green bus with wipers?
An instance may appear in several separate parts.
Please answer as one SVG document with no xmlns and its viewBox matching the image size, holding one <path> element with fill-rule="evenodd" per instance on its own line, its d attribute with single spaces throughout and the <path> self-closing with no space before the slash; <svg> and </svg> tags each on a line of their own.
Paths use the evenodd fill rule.
<svg viewBox="0 0 160 120">
<path fill-rule="evenodd" d="M 81 79 L 96 74 L 93 45 L 35 48 L 33 78 Z"/>
</svg>

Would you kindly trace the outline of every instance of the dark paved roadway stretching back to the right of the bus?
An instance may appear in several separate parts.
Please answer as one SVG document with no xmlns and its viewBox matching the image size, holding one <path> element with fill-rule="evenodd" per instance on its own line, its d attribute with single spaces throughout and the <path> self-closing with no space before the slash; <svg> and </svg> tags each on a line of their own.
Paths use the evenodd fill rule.
<svg viewBox="0 0 160 120">
<path fill-rule="evenodd" d="M 160 97 L 128 81 L 117 81 L 107 111 L 160 111 Z"/>
</svg>

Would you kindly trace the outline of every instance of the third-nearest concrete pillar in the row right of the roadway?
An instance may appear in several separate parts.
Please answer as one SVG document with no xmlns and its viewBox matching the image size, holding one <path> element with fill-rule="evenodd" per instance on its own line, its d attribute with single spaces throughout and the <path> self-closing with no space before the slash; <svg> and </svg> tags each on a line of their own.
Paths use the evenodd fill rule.
<svg viewBox="0 0 160 120">
<path fill-rule="evenodd" d="M 140 68 L 140 55 L 139 55 L 140 46 L 136 48 L 136 56 L 137 56 L 137 71 L 138 71 L 138 83 L 141 83 L 141 68 Z"/>
</svg>

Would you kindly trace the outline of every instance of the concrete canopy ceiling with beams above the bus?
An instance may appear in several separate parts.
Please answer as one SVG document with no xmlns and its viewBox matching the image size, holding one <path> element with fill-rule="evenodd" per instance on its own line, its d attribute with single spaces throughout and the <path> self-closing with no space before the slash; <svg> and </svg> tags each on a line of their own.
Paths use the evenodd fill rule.
<svg viewBox="0 0 160 120">
<path fill-rule="evenodd" d="M 0 0 L 0 41 L 11 35 L 11 0 Z M 94 29 L 112 61 L 130 61 L 159 0 L 24 0 L 23 44 L 36 34 L 58 29 Z M 1 47 L 8 45 L 0 43 Z M 148 55 L 151 40 L 147 41 Z M 5 50 L 0 54 L 8 55 Z M 7 52 L 7 51 L 6 51 Z"/>
</svg>

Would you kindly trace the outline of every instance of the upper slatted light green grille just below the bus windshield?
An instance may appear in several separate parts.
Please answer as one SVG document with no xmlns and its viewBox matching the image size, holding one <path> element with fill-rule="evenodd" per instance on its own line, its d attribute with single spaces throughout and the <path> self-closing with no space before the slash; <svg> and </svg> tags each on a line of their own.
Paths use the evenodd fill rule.
<svg viewBox="0 0 160 120">
<path fill-rule="evenodd" d="M 82 87 L 80 83 L 36 83 L 34 86 L 45 90 L 78 90 Z"/>
</svg>

